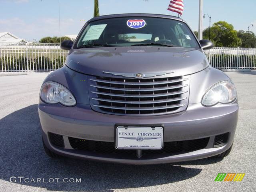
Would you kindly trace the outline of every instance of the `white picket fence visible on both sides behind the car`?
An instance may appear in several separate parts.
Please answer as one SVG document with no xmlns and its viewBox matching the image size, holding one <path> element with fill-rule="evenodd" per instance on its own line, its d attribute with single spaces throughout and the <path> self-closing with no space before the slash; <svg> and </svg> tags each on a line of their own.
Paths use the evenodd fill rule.
<svg viewBox="0 0 256 192">
<path fill-rule="evenodd" d="M 256 69 L 256 49 L 215 47 L 205 53 L 214 68 Z M 67 54 L 60 44 L 0 44 L 0 72 L 56 70 Z"/>
</svg>

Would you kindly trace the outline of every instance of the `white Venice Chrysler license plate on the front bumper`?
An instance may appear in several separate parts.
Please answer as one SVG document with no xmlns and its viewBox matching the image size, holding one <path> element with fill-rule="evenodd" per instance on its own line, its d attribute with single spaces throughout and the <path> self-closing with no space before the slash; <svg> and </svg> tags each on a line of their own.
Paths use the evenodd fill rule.
<svg viewBox="0 0 256 192">
<path fill-rule="evenodd" d="M 162 149 L 162 127 L 124 127 L 116 128 L 117 149 Z"/>
</svg>

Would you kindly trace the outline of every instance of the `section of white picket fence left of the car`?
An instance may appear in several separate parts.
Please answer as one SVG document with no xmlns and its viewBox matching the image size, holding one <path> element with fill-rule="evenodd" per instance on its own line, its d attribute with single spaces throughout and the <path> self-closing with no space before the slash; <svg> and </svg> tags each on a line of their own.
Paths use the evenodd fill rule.
<svg viewBox="0 0 256 192">
<path fill-rule="evenodd" d="M 0 72 L 52 71 L 64 65 L 60 44 L 0 44 Z"/>
</svg>

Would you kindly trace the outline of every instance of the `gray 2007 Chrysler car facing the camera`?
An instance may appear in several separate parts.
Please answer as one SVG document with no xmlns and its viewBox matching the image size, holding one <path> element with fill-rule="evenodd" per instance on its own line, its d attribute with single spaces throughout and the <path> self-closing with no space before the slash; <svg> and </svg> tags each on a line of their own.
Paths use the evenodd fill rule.
<svg viewBox="0 0 256 192">
<path fill-rule="evenodd" d="M 212 68 L 181 18 L 92 18 L 64 66 L 48 75 L 38 112 L 46 153 L 127 164 L 223 158 L 238 120 L 236 88 Z"/>
</svg>

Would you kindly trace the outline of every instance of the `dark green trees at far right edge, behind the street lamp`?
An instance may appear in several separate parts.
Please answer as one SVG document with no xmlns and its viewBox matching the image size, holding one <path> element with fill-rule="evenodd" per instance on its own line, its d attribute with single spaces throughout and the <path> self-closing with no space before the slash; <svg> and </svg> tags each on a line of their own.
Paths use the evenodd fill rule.
<svg viewBox="0 0 256 192">
<path fill-rule="evenodd" d="M 242 40 L 241 47 L 247 48 L 247 42 L 248 42 L 248 48 L 256 48 L 256 36 L 252 31 L 249 31 L 249 35 L 248 35 L 247 31 L 240 30 L 237 32 L 237 36 Z"/>
</svg>

